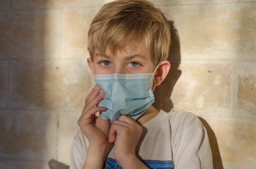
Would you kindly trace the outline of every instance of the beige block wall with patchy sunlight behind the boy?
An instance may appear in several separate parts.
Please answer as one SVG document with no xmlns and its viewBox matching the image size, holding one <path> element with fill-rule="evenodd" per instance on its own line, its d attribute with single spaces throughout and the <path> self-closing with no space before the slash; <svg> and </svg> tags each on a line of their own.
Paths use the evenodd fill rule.
<svg viewBox="0 0 256 169">
<path fill-rule="evenodd" d="M 0 168 L 69 165 L 94 80 L 87 31 L 105 0 L 0 1 Z M 174 22 L 156 107 L 205 125 L 214 169 L 256 166 L 256 1 L 152 0 Z M 161 96 L 161 100 L 159 97 Z"/>
</svg>

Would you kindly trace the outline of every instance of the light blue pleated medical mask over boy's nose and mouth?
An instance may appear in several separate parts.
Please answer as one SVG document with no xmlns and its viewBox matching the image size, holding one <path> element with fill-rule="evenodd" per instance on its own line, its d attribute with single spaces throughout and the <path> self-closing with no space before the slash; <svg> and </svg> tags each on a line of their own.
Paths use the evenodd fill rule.
<svg viewBox="0 0 256 169">
<path fill-rule="evenodd" d="M 107 110 L 100 117 L 117 120 L 124 114 L 134 120 L 139 118 L 155 100 L 151 90 L 154 73 L 94 75 L 96 84 L 105 92 L 98 106 Z"/>
</svg>

